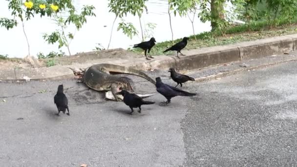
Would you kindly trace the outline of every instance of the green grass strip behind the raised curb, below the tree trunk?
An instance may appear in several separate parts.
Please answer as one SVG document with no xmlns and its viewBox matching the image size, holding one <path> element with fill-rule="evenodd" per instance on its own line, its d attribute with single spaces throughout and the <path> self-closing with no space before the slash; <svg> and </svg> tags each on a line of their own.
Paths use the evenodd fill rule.
<svg viewBox="0 0 297 167">
<path fill-rule="evenodd" d="M 197 41 L 194 36 L 190 36 L 188 45 L 185 49 L 198 49 L 201 47 L 210 47 L 217 45 L 226 45 L 236 42 L 254 41 L 258 39 L 264 39 L 275 36 L 282 36 L 288 34 L 297 33 L 297 20 L 292 21 L 294 23 L 287 24 L 286 21 L 277 21 L 278 26 L 271 28 L 265 21 L 251 22 L 250 31 L 248 25 L 236 25 L 228 28 L 226 34 L 222 35 L 217 32 L 204 32 L 196 35 Z M 174 40 L 174 43 L 181 41 L 182 39 Z M 164 55 L 163 51 L 172 45 L 171 41 L 156 43 L 151 49 L 151 55 Z M 128 50 L 144 54 L 144 51 L 140 48 L 128 48 Z M 176 54 L 176 52 L 169 51 L 165 55 Z"/>
</svg>

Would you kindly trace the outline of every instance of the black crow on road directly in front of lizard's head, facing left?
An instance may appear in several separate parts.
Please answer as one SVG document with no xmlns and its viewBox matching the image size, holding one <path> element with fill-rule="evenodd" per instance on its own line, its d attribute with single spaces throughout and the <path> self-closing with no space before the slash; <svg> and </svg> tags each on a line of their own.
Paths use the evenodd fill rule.
<svg viewBox="0 0 297 167">
<path fill-rule="evenodd" d="M 122 90 L 120 92 L 117 92 L 116 94 L 124 96 L 123 102 L 131 108 L 131 112 L 129 114 L 132 114 L 132 112 L 134 112 L 133 108 L 138 107 L 139 108 L 138 112 L 141 113 L 141 105 L 155 103 L 155 102 L 144 101 L 141 97 L 137 96 L 134 93 L 129 93 L 126 90 Z"/>
</svg>

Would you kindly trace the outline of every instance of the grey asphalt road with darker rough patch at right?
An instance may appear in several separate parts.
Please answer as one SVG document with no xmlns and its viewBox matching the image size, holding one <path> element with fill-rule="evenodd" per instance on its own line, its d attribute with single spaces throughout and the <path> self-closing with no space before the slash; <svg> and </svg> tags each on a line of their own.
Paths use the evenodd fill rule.
<svg viewBox="0 0 297 167">
<path fill-rule="evenodd" d="M 175 85 L 166 72 L 151 72 Z M 155 87 L 133 78 L 136 92 Z M 0 83 L 0 164 L 4 167 L 294 167 L 297 63 L 203 83 L 197 97 L 160 94 L 142 113 L 76 81 Z M 64 84 L 70 116 L 56 116 Z M 3 96 L 10 96 L 2 98 Z M 6 102 L 3 102 L 4 100 Z M 136 109 L 135 109 L 136 111 Z"/>
</svg>

